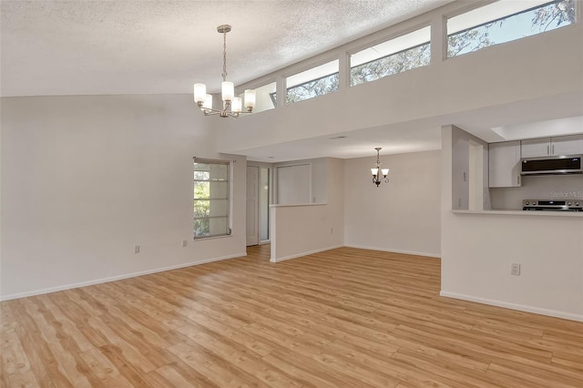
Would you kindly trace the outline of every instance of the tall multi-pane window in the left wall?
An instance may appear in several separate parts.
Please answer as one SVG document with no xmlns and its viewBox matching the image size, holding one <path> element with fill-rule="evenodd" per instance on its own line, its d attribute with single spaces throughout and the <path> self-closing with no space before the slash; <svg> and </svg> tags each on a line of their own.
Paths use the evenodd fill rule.
<svg viewBox="0 0 583 388">
<path fill-rule="evenodd" d="M 195 158 L 194 238 L 229 234 L 229 162 Z"/>
</svg>

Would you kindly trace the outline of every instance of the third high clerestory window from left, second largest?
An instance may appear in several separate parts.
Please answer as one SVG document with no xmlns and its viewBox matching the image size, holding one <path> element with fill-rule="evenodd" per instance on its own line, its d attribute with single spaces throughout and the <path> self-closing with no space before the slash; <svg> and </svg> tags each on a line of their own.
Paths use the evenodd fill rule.
<svg viewBox="0 0 583 388">
<path fill-rule="evenodd" d="M 431 60 L 429 26 L 398 36 L 350 56 L 351 87 L 391 76 Z"/>
</svg>

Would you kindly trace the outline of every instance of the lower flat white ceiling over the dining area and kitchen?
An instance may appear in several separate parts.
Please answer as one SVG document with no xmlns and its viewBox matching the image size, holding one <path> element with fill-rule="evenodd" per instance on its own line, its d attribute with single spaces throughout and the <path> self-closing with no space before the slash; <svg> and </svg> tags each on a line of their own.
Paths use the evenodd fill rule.
<svg viewBox="0 0 583 388">
<path fill-rule="evenodd" d="M 363 158 L 441 149 L 441 126 L 454 124 L 488 143 L 583 132 L 583 93 L 517 101 L 376 128 L 304 138 L 257 148 L 230 149 L 249 160 L 281 162 L 308 158 Z M 240 118 L 244 120 L 245 118 Z"/>
</svg>

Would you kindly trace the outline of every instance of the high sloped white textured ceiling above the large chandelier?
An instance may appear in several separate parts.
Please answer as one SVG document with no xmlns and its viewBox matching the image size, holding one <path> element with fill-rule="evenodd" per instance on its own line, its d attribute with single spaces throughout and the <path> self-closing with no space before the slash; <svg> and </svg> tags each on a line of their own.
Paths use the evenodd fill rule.
<svg viewBox="0 0 583 388">
<path fill-rule="evenodd" d="M 216 91 L 450 0 L 5 1 L 2 96 Z"/>
</svg>

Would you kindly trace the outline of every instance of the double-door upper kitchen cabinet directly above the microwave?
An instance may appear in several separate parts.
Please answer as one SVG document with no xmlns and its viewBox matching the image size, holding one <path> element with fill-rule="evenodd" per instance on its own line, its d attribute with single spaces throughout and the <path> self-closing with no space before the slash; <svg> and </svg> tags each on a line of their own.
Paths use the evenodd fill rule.
<svg viewBox="0 0 583 388">
<path fill-rule="evenodd" d="M 522 158 L 583 154 L 583 134 L 521 141 Z"/>
</svg>

